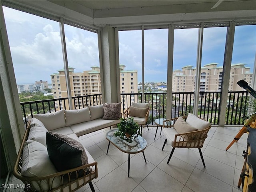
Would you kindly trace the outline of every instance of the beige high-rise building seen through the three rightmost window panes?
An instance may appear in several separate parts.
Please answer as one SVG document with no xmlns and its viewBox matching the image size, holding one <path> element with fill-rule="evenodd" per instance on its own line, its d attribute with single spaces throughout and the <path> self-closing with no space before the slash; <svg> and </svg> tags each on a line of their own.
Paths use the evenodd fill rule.
<svg viewBox="0 0 256 192">
<path fill-rule="evenodd" d="M 201 68 L 200 92 L 218 92 L 222 84 L 223 67 L 218 63 L 206 64 Z M 245 80 L 249 86 L 252 84 L 252 73 L 245 64 L 238 63 L 231 65 L 229 91 L 243 91 L 236 82 Z M 194 92 L 196 84 L 196 68 L 188 65 L 182 70 L 174 70 L 172 77 L 172 92 Z"/>
</svg>

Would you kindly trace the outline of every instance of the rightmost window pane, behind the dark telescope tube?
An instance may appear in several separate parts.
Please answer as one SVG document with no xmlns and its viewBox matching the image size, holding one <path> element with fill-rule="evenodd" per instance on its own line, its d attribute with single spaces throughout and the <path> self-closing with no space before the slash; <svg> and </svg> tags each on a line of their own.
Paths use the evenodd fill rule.
<svg viewBox="0 0 256 192">
<path fill-rule="evenodd" d="M 249 100 L 248 92 L 243 93 L 246 90 L 241 88 L 237 82 L 244 80 L 252 86 L 253 76 L 255 81 L 255 74 L 253 74 L 255 52 L 256 25 L 236 26 L 230 71 L 227 124 L 242 124 L 243 117 L 252 113 L 250 109 L 253 102 Z"/>
</svg>

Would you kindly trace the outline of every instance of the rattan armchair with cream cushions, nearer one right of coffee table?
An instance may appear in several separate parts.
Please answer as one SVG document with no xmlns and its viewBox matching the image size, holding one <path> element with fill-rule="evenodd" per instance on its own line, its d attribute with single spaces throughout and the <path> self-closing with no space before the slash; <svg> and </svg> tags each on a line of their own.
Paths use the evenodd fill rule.
<svg viewBox="0 0 256 192">
<path fill-rule="evenodd" d="M 193 120 L 190 120 L 190 126 L 193 126 L 194 128 L 198 128 L 198 124 L 200 124 L 200 128 L 196 131 L 192 132 L 184 132 L 184 133 L 177 133 L 177 131 L 174 129 L 175 123 L 178 120 L 177 118 L 172 118 L 164 121 L 164 128 L 163 132 L 166 136 L 166 139 L 164 141 L 164 145 L 162 147 L 162 150 L 164 150 L 164 146 L 169 142 L 172 145 L 172 151 L 170 153 L 169 159 L 167 161 L 167 164 L 169 164 L 170 159 L 172 157 L 172 154 L 175 150 L 175 148 L 198 148 L 200 157 L 202 159 L 203 165 L 205 167 L 204 158 L 202 155 L 201 148 L 204 145 L 204 141 L 207 138 L 207 133 L 211 128 L 211 124 L 199 117 L 193 116 Z M 184 120 L 188 118 L 188 116 L 182 116 Z M 198 119 L 196 119 L 198 118 Z M 171 123 L 173 122 L 173 123 Z M 194 124 L 194 125 L 192 125 Z M 204 126 L 201 126 L 204 124 Z M 166 126 L 171 125 L 171 126 Z"/>
</svg>

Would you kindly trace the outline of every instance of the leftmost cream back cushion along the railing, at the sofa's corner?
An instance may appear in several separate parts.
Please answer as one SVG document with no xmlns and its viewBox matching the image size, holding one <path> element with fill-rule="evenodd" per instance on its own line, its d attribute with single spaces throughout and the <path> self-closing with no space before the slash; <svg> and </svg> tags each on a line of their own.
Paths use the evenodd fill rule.
<svg viewBox="0 0 256 192">
<path fill-rule="evenodd" d="M 66 126 L 64 110 L 45 114 L 34 114 L 34 118 L 40 120 L 48 131 Z"/>
</svg>

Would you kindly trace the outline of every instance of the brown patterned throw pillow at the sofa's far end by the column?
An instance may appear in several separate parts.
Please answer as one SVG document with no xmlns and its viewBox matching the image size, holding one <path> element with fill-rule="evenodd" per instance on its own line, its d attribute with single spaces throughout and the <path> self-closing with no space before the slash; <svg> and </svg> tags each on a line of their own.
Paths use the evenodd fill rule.
<svg viewBox="0 0 256 192">
<path fill-rule="evenodd" d="M 120 119 L 121 118 L 121 102 L 103 104 L 102 119 Z"/>
</svg>

